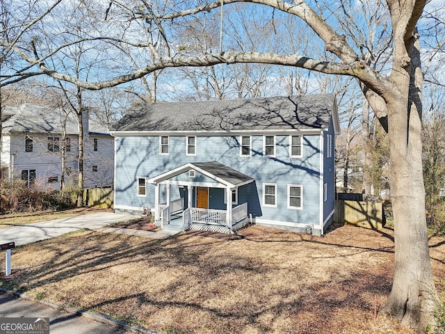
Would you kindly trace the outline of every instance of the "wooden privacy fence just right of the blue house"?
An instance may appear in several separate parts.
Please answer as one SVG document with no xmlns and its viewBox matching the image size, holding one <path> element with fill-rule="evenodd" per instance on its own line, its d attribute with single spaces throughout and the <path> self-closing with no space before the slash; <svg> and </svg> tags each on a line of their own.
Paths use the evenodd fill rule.
<svg viewBox="0 0 445 334">
<path fill-rule="evenodd" d="M 362 228 L 380 229 L 385 225 L 383 203 L 335 200 L 334 221 Z"/>
</svg>

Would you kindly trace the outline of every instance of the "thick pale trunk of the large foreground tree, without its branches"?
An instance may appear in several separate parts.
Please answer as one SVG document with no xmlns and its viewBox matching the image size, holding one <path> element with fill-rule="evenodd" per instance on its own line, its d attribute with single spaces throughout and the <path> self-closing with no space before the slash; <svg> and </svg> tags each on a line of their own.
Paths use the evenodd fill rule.
<svg viewBox="0 0 445 334">
<path fill-rule="evenodd" d="M 397 48 L 400 47 L 400 50 Z M 422 171 L 419 42 L 396 44 L 394 95 L 387 100 L 391 202 L 394 211 L 394 282 L 384 312 L 426 333 L 434 324 L 437 290 L 432 278 Z M 407 57 L 409 55 L 409 58 Z"/>
</svg>

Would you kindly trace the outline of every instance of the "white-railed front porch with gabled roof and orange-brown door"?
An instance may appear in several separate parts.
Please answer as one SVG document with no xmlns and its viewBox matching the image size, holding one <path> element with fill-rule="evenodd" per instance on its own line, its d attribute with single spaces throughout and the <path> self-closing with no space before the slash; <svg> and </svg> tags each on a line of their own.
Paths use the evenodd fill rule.
<svg viewBox="0 0 445 334">
<path fill-rule="evenodd" d="M 254 179 L 216 161 L 179 166 L 149 182 L 155 185 L 156 225 L 182 216 L 182 230 L 233 233 L 249 222 L 248 202 L 238 205 L 238 189 Z M 172 189 L 179 189 L 180 198 L 172 200 Z"/>
</svg>

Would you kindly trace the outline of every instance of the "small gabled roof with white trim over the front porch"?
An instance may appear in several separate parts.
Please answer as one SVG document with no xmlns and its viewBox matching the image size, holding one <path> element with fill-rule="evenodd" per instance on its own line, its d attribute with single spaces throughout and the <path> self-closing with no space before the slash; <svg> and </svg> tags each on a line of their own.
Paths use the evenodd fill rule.
<svg viewBox="0 0 445 334">
<path fill-rule="evenodd" d="M 238 170 L 230 168 L 224 164 L 220 164 L 218 161 L 207 161 L 193 162 L 179 166 L 175 169 L 168 170 L 168 172 L 152 177 L 151 179 L 147 180 L 147 182 L 159 184 L 188 170 L 196 170 L 197 172 L 202 173 L 207 177 L 211 177 L 213 180 L 216 180 L 229 188 L 242 186 L 243 184 L 248 184 L 250 182 L 254 182 L 255 180 L 253 177 L 245 175 Z"/>
</svg>

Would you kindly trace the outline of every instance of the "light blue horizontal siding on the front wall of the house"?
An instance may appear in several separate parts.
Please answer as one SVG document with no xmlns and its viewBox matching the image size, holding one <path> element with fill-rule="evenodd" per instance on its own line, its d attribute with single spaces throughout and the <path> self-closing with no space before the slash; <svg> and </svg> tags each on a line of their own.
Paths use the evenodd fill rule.
<svg viewBox="0 0 445 334">
<path fill-rule="evenodd" d="M 319 203 L 321 136 L 304 136 L 302 158 L 289 157 L 289 136 L 275 138 L 275 157 L 263 155 L 263 136 L 252 136 L 252 157 L 240 157 L 238 136 L 197 136 L 196 156 L 186 155 L 185 136 L 170 136 L 168 155 L 159 154 L 159 136 L 118 136 L 115 140 L 115 204 L 153 207 L 154 186 L 147 185 L 146 197 L 137 196 L 137 177 L 154 177 L 188 162 L 218 161 L 255 179 L 238 191 L 238 203 L 248 201 L 252 215 L 270 221 L 319 225 L 323 214 Z M 264 207 L 264 183 L 277 184 L 277 207 Z M 302 209 L 288 209 L 288 184 L 303 186 Z M 209 203 L 216 200 L 221 203 L 224 193 L 211 189 L 210 196 Z M 216 206 L 225 209 L 221 204 Z"/>
</svg>

